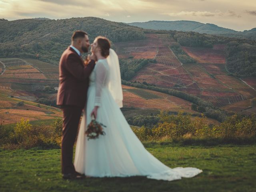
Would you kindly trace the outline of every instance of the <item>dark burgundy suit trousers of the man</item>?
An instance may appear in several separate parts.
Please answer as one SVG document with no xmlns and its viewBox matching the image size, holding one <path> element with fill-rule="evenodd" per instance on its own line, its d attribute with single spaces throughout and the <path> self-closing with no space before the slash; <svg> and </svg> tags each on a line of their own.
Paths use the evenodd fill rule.
<svg viewBox="0 0 256 192">
<path fill-rule="evenodd" d="M 62 174 L 73 174 L 73 148 L 76 140 L 78 125 L 82 113 L 82 107 L 62 106 L 63 128 L 61 142 L 61 166 Z"/>
</svg>

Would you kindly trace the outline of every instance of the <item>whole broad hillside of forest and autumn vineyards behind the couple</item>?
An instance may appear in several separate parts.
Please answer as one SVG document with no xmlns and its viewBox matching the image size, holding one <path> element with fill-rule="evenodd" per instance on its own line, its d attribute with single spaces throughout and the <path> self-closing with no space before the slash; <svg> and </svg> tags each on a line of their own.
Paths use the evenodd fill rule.
<svg viewBox="0 0 256 192">
<path fill-rule="evenodd" d="M 255 111 L 255 107 L 250 107 L 250 100 L 256 97 L 256 43 L 252 40 L 197 32 L 143 30 L 93 17 L 0 20 L 0 24 L 0 89 L 20 93 L 15 95 L 16 99 L 55 99 L 56 95 L 43 90 L 46 86 L 58 86 L 58 59 L 70 44 L 72 32 L 82 29 L 89 32 L 91 40 L 97 35 L 110 38 L 120 58 L 123 80 L 184 93 L 180 99 L 169 93 L 125 86 L 126 115 L 150 115 L 160 110 L 174 113 L 183 110 L 198 115 L 191 105 L 199 98 L 202 100 L 194 103 L 202 111 L 219 113 L 213 112 L 218 108 L 244 114 Z M 200 23 L 193 25 L 204 27 Z M 185 94 L 198 99 L 185 101 Z M 241 108 L 240 103 L 245 106 Z"/>
</svg>

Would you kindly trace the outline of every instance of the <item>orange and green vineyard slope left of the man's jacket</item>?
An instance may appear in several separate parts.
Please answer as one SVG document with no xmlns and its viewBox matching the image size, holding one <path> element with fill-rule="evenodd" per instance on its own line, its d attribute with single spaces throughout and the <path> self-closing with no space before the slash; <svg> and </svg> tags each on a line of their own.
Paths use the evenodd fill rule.
<svg viewBox="0 0 256 192">
<path fill-rule="evenodd" d="M 58 85 L 58 66 L 34 59 L 0 58 L 6 70 L 0 85 L 10 89 L 35 90 L 37 86 Z"/>
</svg>

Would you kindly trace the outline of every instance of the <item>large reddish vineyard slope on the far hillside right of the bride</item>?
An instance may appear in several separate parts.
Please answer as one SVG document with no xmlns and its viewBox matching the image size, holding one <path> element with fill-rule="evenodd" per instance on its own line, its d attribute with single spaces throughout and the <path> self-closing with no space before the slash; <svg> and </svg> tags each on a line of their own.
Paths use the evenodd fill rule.
<svg viewBox="0 0 256 192">
<path fill-rule="evenodd" d="M 229 75 L 226 71 L 226 44 L 215 44 L 213 48 L 182 46 L 182 50 L 196 60 L 196 63 L 182 64 L 171 49 L 176 42 L 170 35 L 146 36 L 146 40 L 115 44 L 122 59 L 156 59 L 156 63 L 142 68 L 132 81 L 180 90 L 218 107 L 247 101 L 244 110 L 248 110 L 250 99 L 256 97 L 256 78 L 238 79 Z"/>
</svg>

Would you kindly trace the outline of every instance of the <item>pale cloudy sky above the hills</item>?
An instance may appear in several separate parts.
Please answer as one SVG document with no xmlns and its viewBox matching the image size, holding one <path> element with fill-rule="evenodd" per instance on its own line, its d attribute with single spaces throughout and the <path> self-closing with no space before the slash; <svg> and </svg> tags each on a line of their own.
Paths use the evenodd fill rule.
<svg viewBox="0 0 256 192">
<path fill-rule="evenodd" d="M 116 22 L 190 20 L 256 28 L 256 0 L 0 0 L 0 18 L 99 17 Z"/>
</svg>

